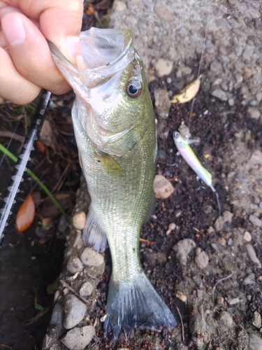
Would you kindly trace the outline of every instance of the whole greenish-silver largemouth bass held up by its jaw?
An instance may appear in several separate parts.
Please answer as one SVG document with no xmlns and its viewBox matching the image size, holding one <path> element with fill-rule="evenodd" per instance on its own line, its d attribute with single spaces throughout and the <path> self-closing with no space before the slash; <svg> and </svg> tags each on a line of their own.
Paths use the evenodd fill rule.
<svg viewBox="0 0 262 350">
<path fill-rule="evenodd" d="M 80 34 L 77 66 L 50 45 L 54 62 L 73 87 L 72 109 L 80 164 L 92 203 L 83 233 L 86 245 L 112 256 L 104 335 L 124 329 L 174 328 L 173 314 L 140 265 L 139 235 L 150 214 L 157 157 L 154 111 L 143 62 L 131 30 Z"/>
</svg>

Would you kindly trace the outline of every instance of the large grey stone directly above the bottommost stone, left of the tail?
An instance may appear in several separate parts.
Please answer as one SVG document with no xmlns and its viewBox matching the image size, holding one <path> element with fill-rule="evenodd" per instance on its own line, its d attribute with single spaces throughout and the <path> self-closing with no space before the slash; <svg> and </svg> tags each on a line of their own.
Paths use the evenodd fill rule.
<svg viewBox="0 0 262 350">
<path fill-rule="evenodd" d="M 86 306 L 72 294 L 66 295 L 64 299 L 64 328 L 71 329 L 84 318 Z"/>
</svg>

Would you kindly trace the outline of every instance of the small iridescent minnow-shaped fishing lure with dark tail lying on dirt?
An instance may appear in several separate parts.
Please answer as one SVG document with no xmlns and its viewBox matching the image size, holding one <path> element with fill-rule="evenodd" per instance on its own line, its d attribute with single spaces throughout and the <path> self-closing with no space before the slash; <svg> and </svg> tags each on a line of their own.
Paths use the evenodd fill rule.
<svg viewBox="0 0 262 350">
<path fill-rule="evenodd" d="M 212 174 L 210 174 L 210 172 L 208 172 L 208 170 L 205 169 L 205 167 L 203 167 L 201 162 L 196 157 L 196 154 L 189 146 L 189 144 L 192 144 L 194 140 L 184 139 L 180 132 L 177 131 L 173 132 L 173 139 L 175 141 L 175 146 L 177 148 L 178 154 L 182 155 L 189 167 L 191 167 L 191 169 L 193 169 L 194 172 L 197 174 L 198 178 L 201 179 L 207 186 L 209 186 L 216 195 L 219 215 L 221 215 L 221 204 L 219 200 L 219 194 L 212 185 Z"/>
</svg>

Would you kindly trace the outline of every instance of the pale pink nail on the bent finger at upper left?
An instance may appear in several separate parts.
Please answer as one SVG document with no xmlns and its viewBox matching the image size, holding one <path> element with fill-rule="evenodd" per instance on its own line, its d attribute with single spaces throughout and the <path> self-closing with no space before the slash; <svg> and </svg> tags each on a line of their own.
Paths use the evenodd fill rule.
<svg viewBox="0 0 262 350">
<path fill-rule="evenodd" d="M 1 20 L 3 35 L 9 45 L 22 43 L 25 38 L 24 24 L 21 18 L 14 13 L 8 13 Z"/>
</svg>

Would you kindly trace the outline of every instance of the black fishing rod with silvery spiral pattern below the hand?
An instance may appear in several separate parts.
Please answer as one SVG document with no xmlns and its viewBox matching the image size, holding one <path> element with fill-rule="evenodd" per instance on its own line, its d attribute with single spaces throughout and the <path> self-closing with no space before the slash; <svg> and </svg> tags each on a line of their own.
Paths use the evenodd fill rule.
<svg viewBox="0 0 262 350">
<path fill-rule="evenodd" d="M 13 214 L 13 207 L 15 206 L 18 193 L 20 193 L 20 186 L 24 181 L 24 174 L 27 172 L 27 167 L 31 160 L 31 151 L 34 150 L 34 143 L 37 141 L 41 132 L 45 115 L 50 103 L 51 92 L 42 90 L 41 96 L 36 108 L 34 122 L 24 140 L 22 151 L 18 156 L 13 175 L 11 176 L 9 186 L 7 188 L 6 197 L 3 198 L 3 204 L 0 209 L 0 247 L 5 236 L 6 228 L 10 215 Z"/>
</svg>

